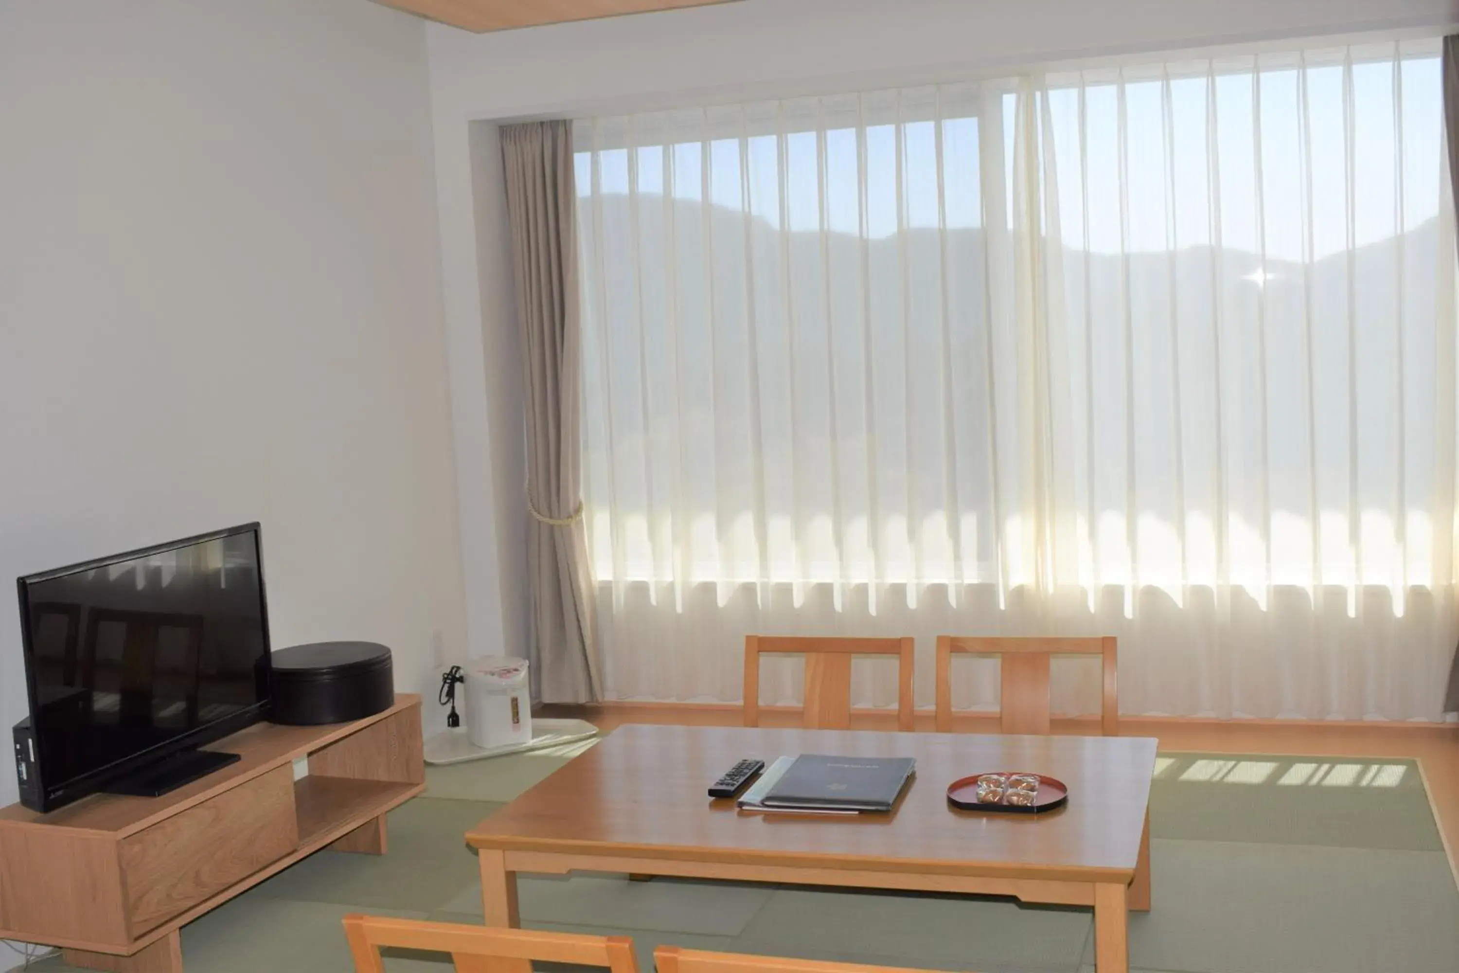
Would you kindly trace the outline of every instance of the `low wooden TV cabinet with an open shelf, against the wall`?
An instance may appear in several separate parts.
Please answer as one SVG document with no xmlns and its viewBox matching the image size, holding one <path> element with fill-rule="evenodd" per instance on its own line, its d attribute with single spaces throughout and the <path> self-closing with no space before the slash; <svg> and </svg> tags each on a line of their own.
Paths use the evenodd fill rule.
<svg viewBox="0 0 1459 973">
<path fill-rule="evenodd" d="M 301 858 L 385 853 L 385 813 L 426 788 L 420 697 L 352 724 L 254 724 L 242 756 L 160 798 L 98 794 L 0 808 L 0 939 L 114 973 L 181 973 L 178 931 Z M 293 779 L 293 761 L 309 773 Z"/>
</svg>

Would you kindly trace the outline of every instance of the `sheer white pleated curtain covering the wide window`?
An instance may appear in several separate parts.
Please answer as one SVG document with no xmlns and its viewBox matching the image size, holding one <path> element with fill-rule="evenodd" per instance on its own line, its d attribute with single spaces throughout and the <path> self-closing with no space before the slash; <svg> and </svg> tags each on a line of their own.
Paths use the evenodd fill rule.
<svg viewBox="0 0 1459 973">
<path fill-rule="evenodd" d="M 938 633 L 1087 633 L 1125 712 L 1439 718 L 1441 130 L 1437 41 L 576 123 L 608 697 L 868 633 L 929 705 Z"/>
</svg>

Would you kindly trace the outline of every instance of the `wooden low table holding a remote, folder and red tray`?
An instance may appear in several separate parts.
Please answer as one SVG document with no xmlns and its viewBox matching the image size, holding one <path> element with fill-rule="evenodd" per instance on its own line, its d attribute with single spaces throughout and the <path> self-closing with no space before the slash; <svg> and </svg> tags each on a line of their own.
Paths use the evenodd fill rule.
<svg viewBox="0 0 1459 973">
<path fill-rule="evenodd" d="M 891 814 L 740 814 L 705 789 L 741 757 L 915 757 Z M 1150 909 L 1150 779 L 1141 737 L 995 737 L 620 726 L 467 833 L 489 926 L 515 926 L 516 872 L 607 871 L 1014 896 L 1094 909 L 1100 973 L 1129 969 L 1128 909 Z M 947 785 L 1033 770 L 1069 785 L 1049 814 L 959 811 Z"/>
</svg>

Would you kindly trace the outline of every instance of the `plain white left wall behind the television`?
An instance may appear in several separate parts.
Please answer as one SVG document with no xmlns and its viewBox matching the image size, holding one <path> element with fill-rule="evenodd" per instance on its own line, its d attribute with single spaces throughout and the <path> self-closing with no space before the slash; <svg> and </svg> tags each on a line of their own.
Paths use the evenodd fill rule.
<svg viewBox="0 0 1459 973">
<path fill-rule="evenodd" d="M 464 595 L 422 22 L 0 0 L 0 576 L 258 519 L 274 646 L 429 690 Z"/>
</svg>

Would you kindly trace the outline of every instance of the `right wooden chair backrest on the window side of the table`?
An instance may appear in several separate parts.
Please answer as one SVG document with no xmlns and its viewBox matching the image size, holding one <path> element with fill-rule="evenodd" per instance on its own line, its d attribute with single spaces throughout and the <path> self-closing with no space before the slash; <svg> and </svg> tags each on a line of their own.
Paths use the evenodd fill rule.
<svg viewBox="0 0 1459 973">
<path fill-rule="evenodd" d="M 1103 672 L 1100 728 L 1106 737 L 1119 735 L 1119 684 L 1116 680 L 1118 645 L 1115 636 L 1091 639 L 1064 637 L 937 637 L 937 731 L 953 729 L 953 654 L 1002 656 L 1002 732 L 1049 732 L 1049 658 L 1055 655 L 1097 655 Z"/>
</svg>

